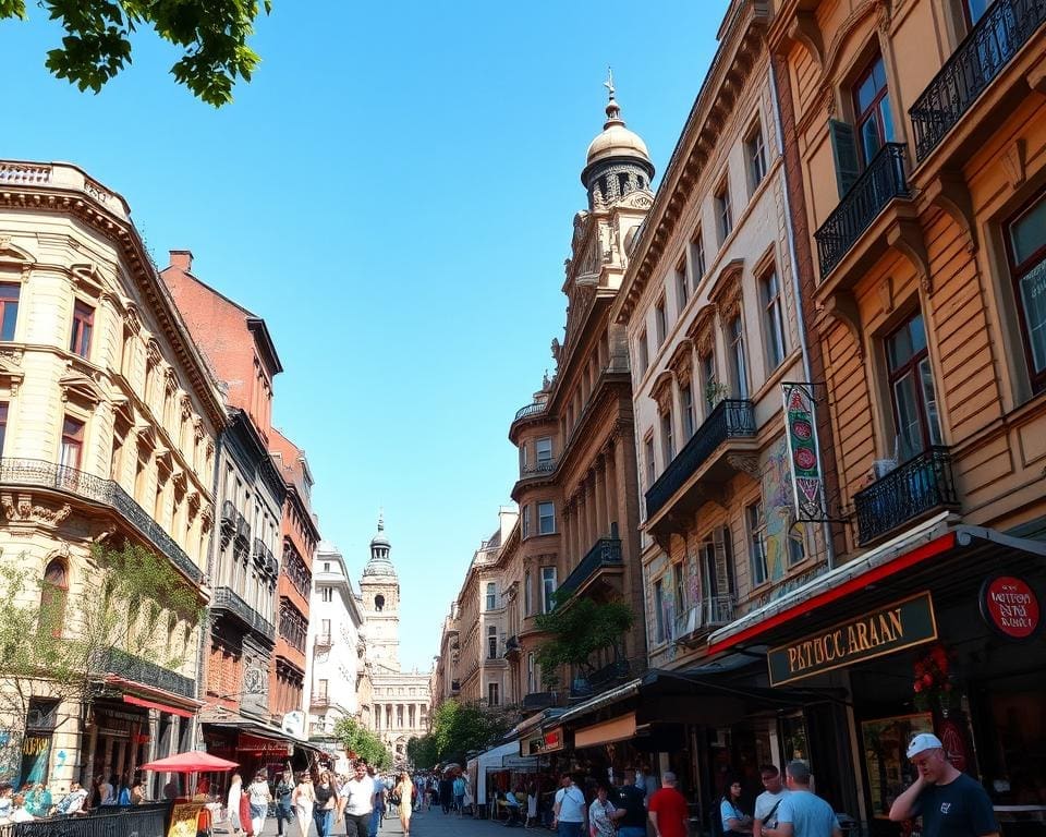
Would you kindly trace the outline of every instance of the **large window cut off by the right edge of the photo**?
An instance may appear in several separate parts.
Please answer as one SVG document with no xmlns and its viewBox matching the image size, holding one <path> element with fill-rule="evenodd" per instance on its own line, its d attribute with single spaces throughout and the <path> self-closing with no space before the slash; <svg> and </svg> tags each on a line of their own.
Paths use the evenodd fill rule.
<svg viewBox="0 0 1046 837">
<path fill-rule="evenodd" d="M 1006 227 L 1006 248 L 1032 388 L 1046 389 L 1046 193 Z"/>
</svg>

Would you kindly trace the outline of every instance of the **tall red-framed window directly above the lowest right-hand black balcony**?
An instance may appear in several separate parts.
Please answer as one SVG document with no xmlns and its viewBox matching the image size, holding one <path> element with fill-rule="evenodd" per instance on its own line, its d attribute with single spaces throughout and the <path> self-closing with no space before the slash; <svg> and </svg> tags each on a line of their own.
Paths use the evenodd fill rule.
<svg viewBox="0 0 1046 837">
<path fill-rule="evenodd" d="M 886 366 L 899 437 L 897 447 L 903 462 L 931 445 L 941 444 L 922 314 L 915 314 L 886 339 Z"/>
</svg>

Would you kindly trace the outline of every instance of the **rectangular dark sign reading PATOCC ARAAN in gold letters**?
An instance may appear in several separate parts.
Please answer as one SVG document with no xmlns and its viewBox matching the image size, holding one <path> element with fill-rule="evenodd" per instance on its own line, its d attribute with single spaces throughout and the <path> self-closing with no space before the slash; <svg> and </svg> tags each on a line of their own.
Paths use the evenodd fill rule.
<svg viewBox="0 0 1046 837">
<path fill-rule="evenodd" d="M 936 639 L 934 603 L 926 591 L 770 648 L 766 654 L 770 686 L 783 686 Z"/>
</svg>

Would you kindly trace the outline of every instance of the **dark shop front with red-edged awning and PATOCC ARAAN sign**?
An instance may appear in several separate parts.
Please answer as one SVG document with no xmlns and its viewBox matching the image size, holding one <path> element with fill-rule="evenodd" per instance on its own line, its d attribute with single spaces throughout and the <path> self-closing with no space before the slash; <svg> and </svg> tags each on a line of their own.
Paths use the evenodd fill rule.
<svg viewBox="0 0 1046 837">
<path fill-rule="evenodd" d="M 710 648 L 763 651 L 773 689 L 846 695 L 779 729 L 786 756 L 807 759 L 817 792 L 859 811 L 866 833 L 902 834 L 887 815 L 915 778 L 908 742 L 925 731 L 984 785 L 1006 837 L 1041 834 L 1044 557 L 1037 541 L 931 521 L 722 629 Z"/>
</svg>

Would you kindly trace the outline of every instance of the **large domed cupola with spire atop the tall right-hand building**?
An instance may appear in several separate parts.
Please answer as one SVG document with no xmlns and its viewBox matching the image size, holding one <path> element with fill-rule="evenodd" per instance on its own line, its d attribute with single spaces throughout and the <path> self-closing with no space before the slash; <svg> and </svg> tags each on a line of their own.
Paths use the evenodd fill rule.
<svg viewBox="0 0 1046 837">
<path fill-rule="evenodd" d="M 608 76 L 605 86 L 610 94 L 607 121 L 603 133 L 588 146 L 586 165 L 581 172 L 581 182 L 588 192 L 589 209 L 612 204 L 637 190 L 653 191 L 654 163 L 646 143 L 625 128 L 621 107 L 615 98 L 612 75 Z"/>
</svg>

